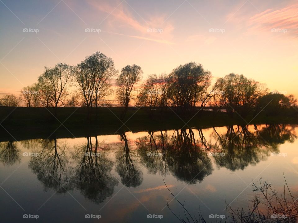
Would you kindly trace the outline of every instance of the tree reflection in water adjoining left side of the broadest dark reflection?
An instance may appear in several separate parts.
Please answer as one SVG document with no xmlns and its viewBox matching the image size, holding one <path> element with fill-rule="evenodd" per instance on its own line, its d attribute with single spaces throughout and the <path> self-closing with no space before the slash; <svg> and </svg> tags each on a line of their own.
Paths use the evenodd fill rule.
<svg viewBox="0 0 298 223">
<path fill-rule="evenodd" d="M 169 168 L 166 163 L 165 140 L 167 140 L 167 131 L 160 135 L 154 135 L 149 131 L 148 136 L 137 139 L 138 155 L 143 166 L 148 169 L 149 173 L 162 175 L 168 174 Z"/>
</svg>

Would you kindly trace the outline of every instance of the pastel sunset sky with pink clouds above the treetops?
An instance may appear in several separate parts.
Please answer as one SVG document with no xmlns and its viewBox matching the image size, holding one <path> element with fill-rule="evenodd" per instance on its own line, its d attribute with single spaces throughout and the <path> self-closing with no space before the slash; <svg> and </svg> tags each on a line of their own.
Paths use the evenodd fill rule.
<svg viewBox="0 0 298 223">
<path fill-rule="evenodd" d="M 297 37 L 289 0 L 0 0 L 0 94 L 100 51 L 143 79 L 193 61 L 214 79 L 243 74 L 298 98 Z"/>
</svg>

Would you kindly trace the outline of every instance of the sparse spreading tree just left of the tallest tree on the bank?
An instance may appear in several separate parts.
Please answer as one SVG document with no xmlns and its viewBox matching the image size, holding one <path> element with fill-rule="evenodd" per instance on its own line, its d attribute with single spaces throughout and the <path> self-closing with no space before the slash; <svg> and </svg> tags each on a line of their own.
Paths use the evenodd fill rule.
<svg viewBox="0 0 298 223">
<path fill-rule="evenodd" d="M 48 96 L 57 107 L 64 104 L 68 93 L 68 81 L 71 78 L 72 68 L 66 63 L 58 63 L 54 68 L 45 67 L 45 71 L 38 77 L 39 90 Z M 47 100 L 48 101 L 48 100 Z"/>
</svg>

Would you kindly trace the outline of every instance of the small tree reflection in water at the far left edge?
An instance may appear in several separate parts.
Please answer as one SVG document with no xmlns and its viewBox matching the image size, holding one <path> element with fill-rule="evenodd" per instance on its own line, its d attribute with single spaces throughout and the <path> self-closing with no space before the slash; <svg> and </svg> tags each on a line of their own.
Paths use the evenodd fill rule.
<svg viewBox="0 0 298 223">
<path fill-rule="evenodd" d="M 15 142 L 0 142 L 0 161 L 4 165 L 20 162 L 20 149 L 16 147 Z"/>
</svg>

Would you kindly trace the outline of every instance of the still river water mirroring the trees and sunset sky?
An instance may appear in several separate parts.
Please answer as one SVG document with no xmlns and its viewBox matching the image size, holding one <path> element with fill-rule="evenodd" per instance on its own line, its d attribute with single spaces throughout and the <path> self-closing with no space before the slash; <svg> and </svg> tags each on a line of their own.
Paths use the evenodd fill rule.
<svg viewBox="0 0 298 223">
<path fill-rule="evenodd" d="M 209 215 L 226 215 L 226 203 L 247 209 L 261 177 L 283 190 L 284 174 L 298 193 L 296 127 L 0 142 L 0 221 L 180 222 L 172 212 L 183 218 L 183 208 L 170 191 L 192 215 L 214 221 Z"/>
</svg>

